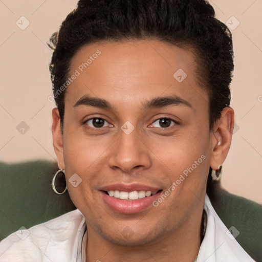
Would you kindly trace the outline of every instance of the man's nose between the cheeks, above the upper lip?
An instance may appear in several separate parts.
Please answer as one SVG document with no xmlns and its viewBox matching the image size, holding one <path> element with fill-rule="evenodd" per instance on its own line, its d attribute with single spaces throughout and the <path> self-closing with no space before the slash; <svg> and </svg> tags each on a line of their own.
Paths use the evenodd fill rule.
<svg viewBox="0 0 262 262">
<path fill-rule="evenodd" d="M 119 130 L 119 137 L 111 151 L 109 165 L 112 169 L 120 169 L 124 173 L 141 171 L 151 166 L 150 149 L 145 138 L 138 134 L 136 128 L 130 134 Z"/>
</svg>

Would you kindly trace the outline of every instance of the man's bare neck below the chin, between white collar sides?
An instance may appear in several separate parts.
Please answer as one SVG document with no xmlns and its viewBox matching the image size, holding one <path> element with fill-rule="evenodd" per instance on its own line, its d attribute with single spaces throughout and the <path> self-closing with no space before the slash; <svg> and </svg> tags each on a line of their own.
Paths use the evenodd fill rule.
<svg viewBox="0 0 262 262">
<path fill-rule="evenodd" d="M 88 225 L 86 261 L 122 262 L 194 262 L 198 255 L 202 235 L 202 209 L 195 209 L 178 229 L 170 230 L 154 242 L 141 246 L 121 246 L 111 243 Z"/>
</svg>

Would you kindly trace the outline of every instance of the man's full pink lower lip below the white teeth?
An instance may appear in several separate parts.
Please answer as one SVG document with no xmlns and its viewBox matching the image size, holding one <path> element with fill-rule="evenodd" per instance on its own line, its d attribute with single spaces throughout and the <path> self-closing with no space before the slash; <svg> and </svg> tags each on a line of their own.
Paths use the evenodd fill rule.
<svg viewBox="0 0 262 262">
<path fill-rule="evenodd" d="M 152 202 L 157 200 L 162 193 L 162 191 L 159 191 L 158 193 L 151 195 L 150 197 L 145 197 L 138 200 L 121 200 L 110 197 L 104 191 L 100 192 L 102 193 L 103 199 L 108 206 L 110 206 L 116 212 L 125 214 L 134 214 L 145 210 L 150 205 L 152 206 Z"/>
</svg>

